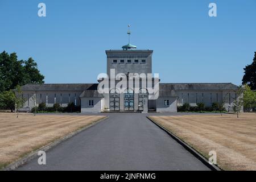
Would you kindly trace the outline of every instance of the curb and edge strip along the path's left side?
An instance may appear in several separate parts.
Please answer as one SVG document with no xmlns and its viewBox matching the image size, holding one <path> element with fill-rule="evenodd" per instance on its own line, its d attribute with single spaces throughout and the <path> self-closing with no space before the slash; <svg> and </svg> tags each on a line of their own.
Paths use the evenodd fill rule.
<svg viewBox="0 0 256 182">
<path fill-rule="evenodd" d="M 93 123 L 91 123 L 88 126 L 85 126 L 79 130 L 73 131 L 72 133 L 69 133 L 68 135 L 65 135 L 64 137 L 61 137 L 57 140 L 54 140 L 53 142 L 47 144 L 46 146 L 40 147 L 38 150 L 32 151 L 30 152 L 30 154 L 27 154 L 26 156 L 24 156 L 21 159 L 16 160 L 15 162 L 9 164 L 9 166 L 1 169 L 0 171 L 13 171 L 16 168 L 19 168 L 21 166 L 23 166 L 24 164 L 28 163 L 30 160 L 36 158 L 36 156 L 38 156 L 38 151 L 48 151 L 50 150 L 52 147 L 57 146 L 58 144 L 60 144 L 61 142 L 64 142 L 65 140 L 74 137 L 75 135 L 81 133 L 82 131 L 89 129 L 90 127 L 97 125 L 98 123 L 100 123 L 101 121 L 104 121 L 105 119 L 108 119 L 109 116 L 106 116 L 105 118 L 99 119 Z"/>
</svg>

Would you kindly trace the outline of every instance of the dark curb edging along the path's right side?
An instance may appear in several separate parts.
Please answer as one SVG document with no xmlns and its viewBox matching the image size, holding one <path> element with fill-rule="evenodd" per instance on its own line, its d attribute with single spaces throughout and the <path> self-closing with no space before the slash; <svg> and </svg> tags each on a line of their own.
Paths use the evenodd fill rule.
<svg viewBox="0 0 256 182">
<path fill-rule="evenodd" d="M 219 167 L 216 165 L 209 164 L 208 160 L 204 158 L 203 155 L 201 155 L 199 152 L 197 152 L 194 148 L 189 146 L 187 143 L 185 143 L 183 140 L 181 140 L 179 137 L 177 137 L 175 134 L 171 133 L 169 130 L 167 130 L 165 127 L 159 125 L 156 123 L 153 119 L 147 116 L 147 119 L 149 119 L 152 123 L 154 123 L 156 126 L 158 126 L 160 129 L 165 131 L 170 137 L 176 140 L 181 146 L 183 146 L 187 151 L 189 151 L 193 156 L 195 156 L 197 159 L 199 159 L 205 166 L 210 168 L 212 171 L 222 171 Z"/>
</svg>

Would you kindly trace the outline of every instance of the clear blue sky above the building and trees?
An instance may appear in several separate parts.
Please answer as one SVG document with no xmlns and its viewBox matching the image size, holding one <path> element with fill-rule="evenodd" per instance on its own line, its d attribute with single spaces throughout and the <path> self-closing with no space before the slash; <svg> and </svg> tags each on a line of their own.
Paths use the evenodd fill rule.
<svg viewBox="0 0 256 182">
<path fill-rule="evenodd" d="M 38 16 L 38 3 L 47 6 Z M 210 2 L 217 17 L 208 16 Z M 0 1 L 0 51 L 33 57 L 46 83 L 92 83 L 106 49 L 153 49 L 161 82 L 233 82 L 256 51 L 256 0 Z"/>
</svg>

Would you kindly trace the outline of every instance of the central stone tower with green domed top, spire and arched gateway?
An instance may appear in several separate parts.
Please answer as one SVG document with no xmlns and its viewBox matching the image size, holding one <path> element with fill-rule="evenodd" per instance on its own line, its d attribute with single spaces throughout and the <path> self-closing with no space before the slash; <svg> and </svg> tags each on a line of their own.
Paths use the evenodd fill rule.
<svg viewBox="0 0 256 182">
<path fill-rule="evenodd" d="M 113 76 L 110 72 L 114 69 L 115 76 L 119 73 L 126 76 L 136 73 L 146 75 L 152 73 L 152 50 L 137 49 L 136 46 L 130 44 L 130 26 L 127 34 L 129 35 L 129 43 L 122 46 L 122 49 L 110 49 L 106 51 L 107 55 L 107 74 Z M 134 74 L 135 75 L 135 74 Z M 115 80 L 115 78 L 111 78 Z M 119 81 L 119 80 L 118 80 Z M 118 82 L 117 81 L 117 82 Z M 115 88 L 109 90 L 109 100 L 106 105 L 109 105 L 110 111 L 148 111 L 148 92 L 146 85 L 143 86 L 139 80 L 139 92 L 134 90 L 134 82 L 130 85 L 127 80 L 127 88 L 122 88 L 124 92 L 118 89 L 117 82 Z"/>
</svg>

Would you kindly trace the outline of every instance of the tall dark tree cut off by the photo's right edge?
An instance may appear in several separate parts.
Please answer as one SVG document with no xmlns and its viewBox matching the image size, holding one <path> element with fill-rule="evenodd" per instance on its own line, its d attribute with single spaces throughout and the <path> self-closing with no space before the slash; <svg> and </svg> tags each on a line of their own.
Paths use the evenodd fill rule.
<svg viewBox="0 0 256 182">
<path fill-rule="evenodd" d="M 256 90 L 256 52 L 254 52 L 253 63 L 247 65 L 243 70 L 245 75 L 243 75 L 242 84 L 249 85 L 252 90 Z"/>
</svg>

